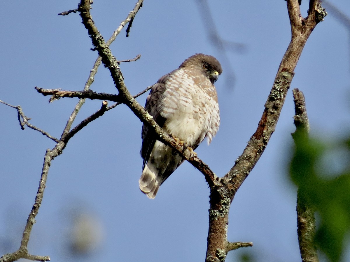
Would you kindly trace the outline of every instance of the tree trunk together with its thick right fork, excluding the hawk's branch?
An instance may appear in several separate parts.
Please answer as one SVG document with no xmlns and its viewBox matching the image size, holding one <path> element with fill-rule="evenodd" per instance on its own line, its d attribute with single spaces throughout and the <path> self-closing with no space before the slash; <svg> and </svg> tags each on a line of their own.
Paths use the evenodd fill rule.
<svg viewBox="0 0 350 262">
<path fill-rule="evenodd" d="M 235 165 L 215 187 L 211 187 L 207 262 L 225 260 L 227 252 L 223 256 L 222 250 L 228 246 L 226 236 L 230 204 L 237 190 L 260 159 L 275 131 L 303 47 L 316 24 L 327 14 L 319 0 L 310 1 L 310 10 L 305 19 L 300 14 L 297 0 L 287 0 L 287 8 L 292 39 L 278 68 L 258 128 L 243 153 L 235 161 Z"/>
</svg>

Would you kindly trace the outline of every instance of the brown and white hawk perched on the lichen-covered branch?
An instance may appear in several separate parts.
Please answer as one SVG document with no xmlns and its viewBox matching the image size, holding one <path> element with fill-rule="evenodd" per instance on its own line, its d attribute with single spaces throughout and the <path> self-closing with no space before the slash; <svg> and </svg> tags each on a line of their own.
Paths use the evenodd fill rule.
<svg viewBox="0 0 350 262">
<path fill-rule="evenodd" d="M 147 96 L 145 109 L 168 134 L 196 149 L 208 145 L 219 129 L 219 105 L 214 82 L 222 73 L 219 61 L 205 54 L 187 58 L 176 70 L 161 77 Z M 140 189 L 154 198 L 159 186 L 180 166 L 183 158 L 142 126 L 143 171 Z"/>
</svg>

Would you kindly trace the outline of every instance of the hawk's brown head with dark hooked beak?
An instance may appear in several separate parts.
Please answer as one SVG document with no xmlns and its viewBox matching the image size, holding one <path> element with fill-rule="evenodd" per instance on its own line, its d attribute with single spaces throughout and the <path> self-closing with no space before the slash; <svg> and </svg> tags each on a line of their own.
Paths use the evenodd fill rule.
<svg viewBox="0 0 350 262">
<path fill-rule="evenodd" d="M 222 68 L 219 61 L 213 56 L 202 53 L 194 54 L 193 56 L 187 58 L 179 66 L 179 68 L 183 67 L 192 67 L 196 70 L 200 70 L 213 84 L 222 73 Z"/>
</svg>

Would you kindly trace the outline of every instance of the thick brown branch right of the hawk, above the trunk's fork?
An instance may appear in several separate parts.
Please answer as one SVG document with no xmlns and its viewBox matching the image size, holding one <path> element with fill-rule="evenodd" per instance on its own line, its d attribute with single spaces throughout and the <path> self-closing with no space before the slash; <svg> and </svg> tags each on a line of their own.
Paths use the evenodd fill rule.
<svg viewBox="0 0 350 262">
<path fill-rule="evenodd" d="M 316 2 L 318 3 L 319 1 Z M 315 3 L 315 6 L 317 3 Z M 226 181 L 233 179 L 235 182 L 232 188 L 233 195 L 259 160 L 275 130 L 285 97 L 294 76 L 297 61 L 308 37 L 319 22 L 315 17 L 316 11 L 314 11 L 313 13 L 309 13 L 306 22 L 301 23 L 303 18 L 300 15 L 297 0 L 288 0 L 287 7 L 292 28 L 292 40 L 282 58 L 271 92 L 265 103 L 265 110 L 259 121 L 258 128 L 248 142 L 243 154 L 240 155 L 230 172 L 224 177 Z M 313 20 L 311 19 L 312 17 L 314 18 Z"/>
</svg>

